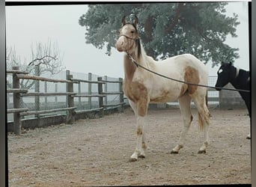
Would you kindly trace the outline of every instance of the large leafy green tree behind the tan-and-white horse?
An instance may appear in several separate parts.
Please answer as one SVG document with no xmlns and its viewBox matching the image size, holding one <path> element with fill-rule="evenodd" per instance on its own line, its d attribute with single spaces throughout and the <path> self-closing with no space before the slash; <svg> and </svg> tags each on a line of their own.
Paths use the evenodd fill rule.
<svg viewBox="0 0 256 187">
<path fill-rule="evenodd" d="M 224 2 L 91 4 L 80 16 L 85 26 L 86 43 L 98 49 L 106 46 L 107 55 L 118 37 L 121 19 L 130 13 L 138 16 L 138 31 L 147 55 L 164 59 L 191 53 L 213 67 L 221 61 L 234 62 L 238 49 L 225 44 L 228 34 L 237 37 L 237 14 L 225 15 Z"/>
</svg>

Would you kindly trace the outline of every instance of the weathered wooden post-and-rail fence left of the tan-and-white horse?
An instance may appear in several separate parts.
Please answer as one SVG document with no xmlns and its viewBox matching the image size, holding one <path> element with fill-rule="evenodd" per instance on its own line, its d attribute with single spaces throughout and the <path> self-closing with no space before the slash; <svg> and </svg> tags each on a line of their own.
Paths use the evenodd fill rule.
<svg viewBox="0 0 256 187">
<path fill-rule="evenodd" d="M 91 81 L 91 80 L 83 80 L 83 79 L 75 79 L 73 78 L 73 75 L 70 75 L 70 71 L 66 71 L 66 79 L 48 79 L 40 76 L 30 76 L 28 73 L 20 71 L 19 67 L 13 67 L 12 70 L 7 70 L 6 73 L 13 75 L 13 88 L 7 88 L 7 93 L 13 93 L 13 108 L 7 109 L 7 113 L 13 113 L 13 132 L 17 135 L 21 134 L 21 128 L 24 124 L 25 120 L 22 120 L 22 117 L 27 115 L 35 115 L 35 118 L 37 119 L 34 123 L 41 123 L 43 117 L 40 117 L 39 114 L 47 114 L 47 113 L 53 113 L 58 111 L 67 111 L 65 122 L 72 124 L 79 114 L 85 114 L 88 112 L 96 111 L 100 117 L 103 117 L 104 111 L 106 111 L 106 108 L 112 107 L 112 108 L 118 108 L 118 111 L 124 111 L 124 93 L 122 91 L 122 83 L 123 80 L 120 78 L 118 81 L 107 81 L 103 80 L 102 77 L 98 77 L 97 81 Z M 35 85 L 39 85 L 39 82 L 60 82 L 66 84 L 66 92 L 55 92 L 55 93 L 46 93 L 40 92 L 39 89 L 35 89 L 34 92 L 28 92 L 27 89 L 20 88 L 19 80 L 20 79 L 30 79 L 35 81 Z M 91 84 L 96 84 L 98 87 L 98 93 L 97 94 L 81 94 L 81 91 L 79 89 L 78 93 L 75 93 L 73 90 L 73 86 L 75 84 L 80 84 L 81 82 L 88 83 L 88 86 L 90 87 Z M 116 92 L 104 92 L 103 91 L 103 85 L 106 83 L 113 83 L 119 85 L 119 91 Z M 104 104 L 103 98 L 105 98 L 108 95 L 119 95 L 119 102 L 115 105 L 107 105 L 106 102 Z M 20 107 L 20 103 L 22 102 L 22 97 L 24 96 L 34 96 L 34 102 L 35 102 L 35 110 L 31 111 L 28 108 Z M 40 103 L 40 96 L 66 96 L 67 100 L 67 107 L 65 108 L 54 108 L 54 109 L 46 109 L 46 110 L 40 110 L 39 103 Z M 74 102 L 74 98 L 82 98 L 87 97 L 89 98 L 89 101 L 92 97 L 97 97 L 99 102 L 98 108 L 88 109 L 88 110 L 79 110 L 76 111 L 76 105 Z M 49 123 L 51 120 L 46 120 L 46 123 Z M 50 125 L 50 124 L 49 124 Z M 9 126 L 9 124 L 8 124 Z M 10 129 L 10 128 L 9 128 Z M 12 130 L 10 130 L 12 131 Z"/>
</svg>

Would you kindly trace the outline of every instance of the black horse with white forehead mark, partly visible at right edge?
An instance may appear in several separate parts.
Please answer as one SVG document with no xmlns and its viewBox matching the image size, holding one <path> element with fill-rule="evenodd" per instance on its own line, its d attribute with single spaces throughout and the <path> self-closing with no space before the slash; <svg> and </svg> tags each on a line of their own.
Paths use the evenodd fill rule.
<svg viewBox="0 0 256 187">
<path fill-rule="evenodd" d="M 229 82 L 236 89 L 250 91 L 250 72 L 246 70 L 239 69 L 234 67 L 230 63 L 222 63 L 222 66 L 218 70 L 218 79 L 216 82 L 216 90 L 221 91 L 222 88 L 227 85 Z M 251 98 L 250 92 L 239 91 L 240 96 L 246 102 L 247 109 L 249 111 L 249 117 L 251 117 Z M 251 133 L 247 136 L 248 139 L 251 138 Z"/>
</svg>

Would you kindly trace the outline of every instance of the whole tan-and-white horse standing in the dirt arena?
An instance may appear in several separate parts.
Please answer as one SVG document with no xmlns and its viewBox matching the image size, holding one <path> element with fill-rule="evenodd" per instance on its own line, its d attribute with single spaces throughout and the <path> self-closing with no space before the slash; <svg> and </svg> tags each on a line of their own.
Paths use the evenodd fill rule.
<svg viewBox="0 0 256 187">
<path fill-rule="evenodd" d="M 124 93 L 129 99 L 137 118 L 137 145 L 130 161 L 136 161 L 138 157 L 145 157 L 147 148 L 144 141 L 144 117 L 147 115 L 147 107 L 150 102 L 171 102 L 176 99 L 180 103 L 180 111 L 183 115 L 183 131 L 176 147 L 171 153 L 178 153 L 183 147 L 186 134 L 192 122 L 190 109 L 191 100 L 198 108 L 198 123 L 200 129 L 204 129 L 204 143 L 198 153 L 206 153 L 209 144 L 208 127 L 210 113 L 206 105 L 207 88 L 197 85 L 188 85 L 174 82 L 161 76 L 157 76 L 132 63 L 135 60 L 141 66 L 161 73 L 162 75 L 179 79 L 193 84 L 207 85 L 208 73 L 204 64 L 193 55 L 177 55 L 164 61 L 156 62 L 147 56 L 141 46 L 137 29 L 138 18 L 127 22 L 124 16 L 122 26 L 119 30 L 119 38 L 116 48 L 119 52 L 127 52 L 124 55 Z M 132 60 L 131 60 L 132 59 Z"/>
</svg>

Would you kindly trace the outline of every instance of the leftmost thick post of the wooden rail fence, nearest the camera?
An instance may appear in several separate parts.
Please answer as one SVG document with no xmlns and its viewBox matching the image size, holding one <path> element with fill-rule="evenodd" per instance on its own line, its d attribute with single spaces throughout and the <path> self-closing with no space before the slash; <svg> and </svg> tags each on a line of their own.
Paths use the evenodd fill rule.
<svg viewBox="0 0 256 187">
<path fill-rule="evenodd" d="M 12 67 L 13 70 L 19 70 L 19 67 Z M 19 78 L 13 73 L 13 88 L 19 89 Z M 20 93 L 13 93 L 13 108 L 19 108 Z M 16 135 L 21 133 L 21 119 L 19 112 L 13 113 L 13 131 Z"/>
</svg>

